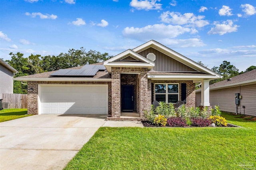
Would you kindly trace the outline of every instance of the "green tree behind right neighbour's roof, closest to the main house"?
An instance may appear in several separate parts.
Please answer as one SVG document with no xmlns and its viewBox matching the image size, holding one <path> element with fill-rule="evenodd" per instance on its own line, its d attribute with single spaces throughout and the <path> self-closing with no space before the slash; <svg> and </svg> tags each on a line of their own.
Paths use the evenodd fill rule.
<svg viewBox="0 0 256 170">
<path fill-rule="evenodd" d="M 223 61 L 222 64 L 220 64 L 219 67 L 214 66 L 212 68 L 214 72 L 217 72 L 218 74 L 222 75 L 223 78 L 217 79 L 217 80 L 211 80 L 210 84 L 214 84 L 216 82 L 220 82 L 222 80 L 226 80 L 228 78 L 237 76 L 239 74 L 239 70 L 230 64 L 228 61 Z"/>
</svg>

